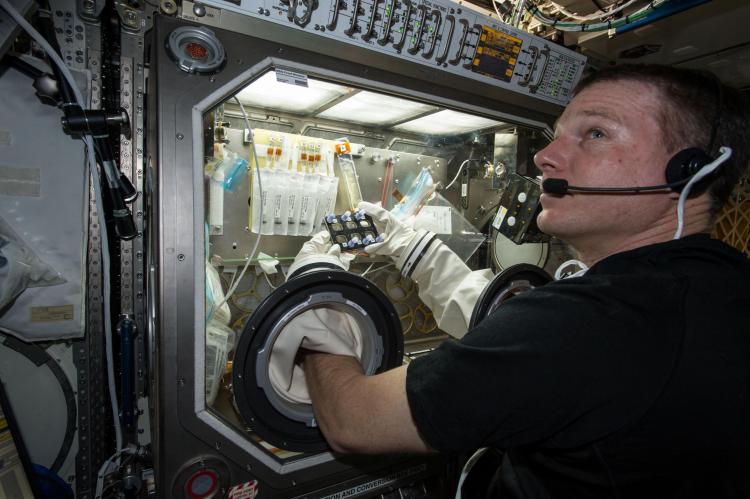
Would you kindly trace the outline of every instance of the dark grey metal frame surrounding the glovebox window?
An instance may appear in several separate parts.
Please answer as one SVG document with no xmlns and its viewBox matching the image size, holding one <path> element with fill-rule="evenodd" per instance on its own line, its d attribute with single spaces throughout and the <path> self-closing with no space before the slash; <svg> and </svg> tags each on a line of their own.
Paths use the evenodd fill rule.
<svg viewBox="0 0 750 499">
<path fill-rule="evenodd" d="M 257 23 L 247 19 L 248 25 L 253 22 Z M 152 403 L 159 488 L 164 491 L 173 487 L 186 456 L 225 462 L 232 475 L 231 483 L 259 479 L 266 487 L 287 489 L 276 491 L 276 497 L 330 487 L 333 483 L 356 478 L 362 470 L 386 466 L 405 469 L 409 466 L 407 460 L 400 464 L 394 464 L 393 459 L 367 458 L 345 462 L 330 453 L 282 462 L 206 409 L 203 394 L 204 186 L 202 173 L 196 173 L 203 165 L 203 113 L 274 67 L 538 129 L 549 127 L 559 108 L 537 103 L 537 110 L 531 110 L 510 100 L 487 100 L 486 95 L 496 95 L 489 85 L 446 75 L 439 69 L 426 71 L 404 61 L 397 61 L 396 73 L 332 58 L 327 55 L 326 47 L 316 49 L 320 52 L 311 52 L 280 45 L 283 40 L 279 36 L 283 33 L 273 33 L 260 26 L 259 34 L 264 38 L 215 28 L 227 50 L 225 68 L 210 76 L 188 75 L 171 62 L 164 49 L 164 40 L 171 30 L 186 24 L 158 19 L 150 37 L 149 94 L 153 100 L 149 105 L 153 114 L 149 116 L 149 151 L 152 154 L 149 163 L 153 164 L 149 166 L 156 180 L 150 225 L 157 279 L 157 301 L 153 305 L 155 331 L 151 334 L 155 334 L 158 348 L 154 373 L 157 394 Z M 512 97 L 517 99 L 517 95 Z M 540 112 L 539 108 L 547 112 Z M 201 180 L 196 181 L 196 178 Z M 169 451 L 164 451 L 165 448 Z M 361 468 L 353 468 L 353 463 Z M 434 471 L 428 466 L 420 473 Z"/>
</svg>

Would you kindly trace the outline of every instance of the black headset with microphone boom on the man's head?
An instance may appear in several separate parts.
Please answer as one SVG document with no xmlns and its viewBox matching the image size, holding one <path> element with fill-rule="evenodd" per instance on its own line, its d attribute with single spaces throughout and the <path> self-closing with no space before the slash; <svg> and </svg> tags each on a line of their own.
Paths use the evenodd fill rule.
<svg viewBox="0 0 750 499">
<path fill-rule="evenodd" d="M 687 149 L 682 149 L 681 151 L 678 151 L 672 158 L 667 162 L 667 167 L 665 170 L 665 176 L 667 182 L 664 184 L 659 185 L 646 185 L 646 186 L 634 186 L 634 187 L 579 187 L 575 185 L 568 185 L 568 181 L 563 178 L 548 178 L 544 182 L 542 182 L 542 189 L 544 192 L 549 194 L 556 194 L 556 195 L 565 195 L 569 192 L 578 192 L 578 193 L 616 193 L 616 192 L 622 192 L 622 193 L 630 193 L 630 194 L 639 194 L 641 192 L 649 192 L 649 191 L 661 191 L 670 189 L 674 192 L 682 193 L 683 189 L 688 185 L 690 180 L 694 178 L 698 172 L 703 170 L 705 175 L 701 176 L 701 179 L 705 178 L 707 175 L 715 172 L 719 166 L 721 166 L 724 161 L 726 161 L 729 156 L 732 154 L 731 149 L 729 150 L 729 155 L 724 157 L 724 154 L 721 154 L 717 158 L 711 157 L 711 151 L 714 149 L 714 144 L 716 142 L 716 135 L 719 131 L 719 126 L 721 125 L 721 115 L 722 115 L 722 107 L 724 106 L 724 91 L 722 89 L 722 83 L 719 81 L 719 79 L 713 75 L 712 73 L 709 73 L 711 79 L 714 82 L 715 88 L 716 88 L 716 115 L 714 116 L 712 125 L 711 125 L 711 139 L 708 143 L 708 149 L 704 150 L 699 147 L 689 147 Z M 720 152 L 723 152 L 724 149 L 728 148 L 721 148 L 722 150 Z M 721 161 L 719 161 L 721 160 Z M 714 163 L 717 163 L 714 165 Z M 708 187 L 709 182 L 704 182 L 702 185 L 699 186 L 698 189 L 695 189 L 693 191 L 693 194 L 698 194 L 700 192 L 703 192 Z M 693 184 L 695 185 L 695 184 Z M 692 186 L 691 186 L 692 187 Z"/>
</svg>

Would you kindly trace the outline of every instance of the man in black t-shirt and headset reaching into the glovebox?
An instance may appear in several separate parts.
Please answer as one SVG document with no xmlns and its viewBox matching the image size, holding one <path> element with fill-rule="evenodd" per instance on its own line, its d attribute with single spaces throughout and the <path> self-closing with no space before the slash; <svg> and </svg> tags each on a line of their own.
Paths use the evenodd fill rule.
<svg viewBox="0 0 750 499">
<path fill-rule="evenodd" d="M 624 65 L 584 78 L 535 163 L 545 180 L 625 192 L 545 193 L 540 229 L 586 272 L 468 332 L 491 275 L 360 205 L 387 234 L 368 251 L 392 258 L 461 338 L 374 376 L 353 357 L 305 351 L 331 447 L 496 449 L 487 497 L 748 496 L 750 263 L 708 233 L 750 159 L 749 124 L 742 94 L 706 73 Z M 328 251 L 319 237 L 295 265 Z"/>
</svg>

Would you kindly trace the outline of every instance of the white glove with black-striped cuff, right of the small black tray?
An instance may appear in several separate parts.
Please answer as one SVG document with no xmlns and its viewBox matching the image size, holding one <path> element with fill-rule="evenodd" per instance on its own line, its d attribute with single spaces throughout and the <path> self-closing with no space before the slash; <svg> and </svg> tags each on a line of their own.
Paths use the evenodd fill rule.
<svg viewBox="0 0 750 499">
<path fill-rule="evenodd" d="M 402 275 L 418 285 L 419 298 L 432 311 L 440 329 L 461 338 L 469 329 L 474 306 L 493 277 L 489 269 L 472 271 L 434 233 L 413 230 L 379 205 L 361 202 L 357 206 L 373 218 L 382 243 L 365 251 L 387 255 Z"/>
</svg>

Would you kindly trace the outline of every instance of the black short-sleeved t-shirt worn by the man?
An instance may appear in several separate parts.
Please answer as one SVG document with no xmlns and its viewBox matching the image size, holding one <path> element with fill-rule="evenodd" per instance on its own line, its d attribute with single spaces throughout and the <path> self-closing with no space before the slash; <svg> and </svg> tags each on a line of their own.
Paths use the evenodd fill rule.
<svg viewBox="0 0 750 499">
<path fill-rule="evenodd" d="M 750 497 L 748 285 L 694 235 L 516 296 L 409 365 L 417 428 L 504 450 L 497 497 Z"/>
</svg>

